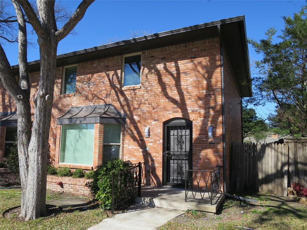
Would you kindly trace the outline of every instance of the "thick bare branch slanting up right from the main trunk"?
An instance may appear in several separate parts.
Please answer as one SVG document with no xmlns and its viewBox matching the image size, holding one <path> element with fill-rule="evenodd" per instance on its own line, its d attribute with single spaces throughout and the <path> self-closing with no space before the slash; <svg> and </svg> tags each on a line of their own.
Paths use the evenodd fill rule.
<svg viewBox="0 0 307 230">
<path fill-rule="evenodd" d="M 59 42 L 64 37 L 66 37 L 72 29 L 75 28 L 77 23 L 83 18 L 85 11 L 87 8 L 94 2 L 94 0 L 83 0 L 78 8 L 76 9 L 75 13 L 69 18 L 66 24 L 56 32 L 56 40 Z"/>
</svg>

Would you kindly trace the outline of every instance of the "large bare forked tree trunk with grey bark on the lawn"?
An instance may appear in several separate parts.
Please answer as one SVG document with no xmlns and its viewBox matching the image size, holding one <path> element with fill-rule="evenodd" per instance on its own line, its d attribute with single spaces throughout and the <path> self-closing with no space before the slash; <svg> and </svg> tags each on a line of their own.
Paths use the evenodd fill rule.
<svg viewBox="0 0 307 230">
<path fill-rule="evenodd" d="M 18 61 L 21 86 L 18 85 L 10 63 L 0 44 L 0 78 L 14 98 L 18 113 L 18 155 L 21 175 L 21 214 L 25 220 L 46 213 L 46 168 L 49 153 L 49 129 L 56 72 L 56 50 L 84 16 L 93 1 L 82 1 L 67 23 L 58 30 L 54 16 L 54 1 L 37 0 L 39 18 L 28 1 L 11 0 L 18 21 Z M 31 133 L 30 84 L 27 72 L 27 42 L 25 17 L 37 33 L 40 46 L 41 73 L 34 98 L 34 120 Z"/>
</svg>

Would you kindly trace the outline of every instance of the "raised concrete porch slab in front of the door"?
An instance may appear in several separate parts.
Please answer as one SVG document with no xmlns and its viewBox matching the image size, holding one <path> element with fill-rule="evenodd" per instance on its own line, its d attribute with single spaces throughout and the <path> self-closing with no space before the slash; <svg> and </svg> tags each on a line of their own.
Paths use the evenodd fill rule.
<svg viewBox="0 0 307 230">
<path fill-rule="evenodd" d="M 200 198 L 200 194 L 197 194 L 195 198 Z M 218 194 L 213 199 L 211 205 L 208 194 L 205 194 L 203 200 L 199 200 L 194 199 L 191 192 L 189 192 L 187 202 L 185 202 L 184 188 L 142 186 L 141 197 L 135 197 L 134 202 L 168 209 L 195 209 L 208 213 L 216 213 L 224 198 L 225 194 Z"/>
</svg>

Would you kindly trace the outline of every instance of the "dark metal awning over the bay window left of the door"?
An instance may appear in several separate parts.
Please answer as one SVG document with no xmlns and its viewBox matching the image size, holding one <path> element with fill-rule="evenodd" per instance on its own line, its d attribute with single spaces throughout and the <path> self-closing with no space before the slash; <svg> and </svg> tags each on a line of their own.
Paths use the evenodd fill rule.
<svg viewBox="0 0 307 230">
<path fill-rule="evenodd" d="M 57 118 L 58 125 L 89 123 L 126 124 L 126 116 L 111 105 L 89 105 L 71 107 Z"/>
</svg>

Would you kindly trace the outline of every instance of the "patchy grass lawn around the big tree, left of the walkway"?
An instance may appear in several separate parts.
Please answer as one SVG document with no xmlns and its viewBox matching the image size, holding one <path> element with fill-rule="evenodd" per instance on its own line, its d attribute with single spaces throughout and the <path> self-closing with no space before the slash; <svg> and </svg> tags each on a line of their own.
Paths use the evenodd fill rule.
<svg viewBox="0 0 307 230">
<path fill-rule="evenodd" d="M 87 229 L 88 227 L 107 218 L 107 215 L 102 209 L 99 208 L 97 204 L 63 208 L 54 217 L 38 218 L 37 220 L 20 221 L 14 218 L 3 218 L 2 212 L 4 210 L 20 205 L 20 196 L 14 194 L 18 192 L 20 192 L 19 189 L 0 190 L 0 229 L 79 230 Z"/>
</svg>

